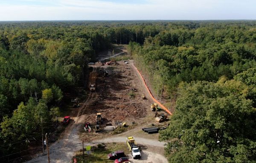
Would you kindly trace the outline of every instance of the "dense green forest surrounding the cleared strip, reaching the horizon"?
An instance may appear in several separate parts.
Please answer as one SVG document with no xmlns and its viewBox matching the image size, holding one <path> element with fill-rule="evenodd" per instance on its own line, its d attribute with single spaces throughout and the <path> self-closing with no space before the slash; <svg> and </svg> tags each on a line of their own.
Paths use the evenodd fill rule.
<svg viewBox="0 0 256 163">
<path fill-rule="evenodd" d="M 0 22 L 0 155 L 51 129 L 87 63 L 128 44 L 153 91 L 177 95 L 169 162 L 256 160 L 256 21 Z"/>
</svg>

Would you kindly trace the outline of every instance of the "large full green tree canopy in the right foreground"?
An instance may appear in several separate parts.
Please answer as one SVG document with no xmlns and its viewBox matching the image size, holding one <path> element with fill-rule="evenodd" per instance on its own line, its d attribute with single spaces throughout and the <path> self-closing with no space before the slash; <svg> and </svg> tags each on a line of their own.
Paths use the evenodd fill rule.
<svg viewBox="0 0 256 163">
<path fill-rule="evenodd" d="M 242 82 L 179 86 L 177 106 L 160 140 L 169 162 L 243 163 L 256 160 L 256 109 Z"/>
</svg>

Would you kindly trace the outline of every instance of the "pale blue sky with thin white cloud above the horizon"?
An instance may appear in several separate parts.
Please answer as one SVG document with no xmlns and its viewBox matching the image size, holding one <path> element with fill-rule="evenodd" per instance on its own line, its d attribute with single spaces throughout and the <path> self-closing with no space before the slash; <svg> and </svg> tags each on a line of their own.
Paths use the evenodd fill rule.
<svg viewBox="0 0 256 163">
<path fill-rule="evenodd" d="M 256 0 L 0 0 L 0 21 L 256 20 Z"/>
</svg>

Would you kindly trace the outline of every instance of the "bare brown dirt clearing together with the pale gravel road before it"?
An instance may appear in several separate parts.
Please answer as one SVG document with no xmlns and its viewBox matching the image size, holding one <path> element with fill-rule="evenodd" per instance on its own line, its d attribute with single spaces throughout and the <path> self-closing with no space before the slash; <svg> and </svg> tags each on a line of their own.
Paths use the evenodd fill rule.
<svg viewBox="0 0 256 163">
<path fill-rule="evenodd" d="M 108 77 L 102 77 L 96 73 L 99 69 L 107 70 Z M 86 139 L 84 145 L 94 145 L 97 143 L 107 142 L 124 142 L 124 136 L 111 135 L 107 133 L 82 133 L 82 128 L 85 120 L 91 122 L 92 126 L 95 122 L 96 112 L 101 112 L 105 120 L 111 121 L 126 121 L 130 122 L 136 119 L 137 124 L 147 124 L 145 117 L 153 115 L 148 106 L 150 100 L 142 100 L 141 95 L 146 94 L 145 88 L 137 76 L 136 68 L 132 62 L 125 64 L 117 62 L 115 65 L 94 65 L 90 73 L 90 81 L 96 79 L 96 91 L 89 92 L 87 99 L 83 101 L 81 107 L 73 113 L 73 122 L 67 126 L 61 138 L 49 146 L 50 161 L 52 163 L 70 163 L 75 152 L 82 148 L 81 139 Z M 98 76 L 97 78 L 94 78 Z M 134 93 L 135 97 L 130 98 L 129 93 Z M 149 111 L 149 112 L 148 112 Z M 152 116 L 153 117 L 153 116 Z M 141 127 L 138 126 L 138 130 Z M 127 132 L 127 134 L 129 131 Z M 122 133 L 123 135 L 124 133 Z M 109 137 L 109 138 L 106 138 Z M 152 139 L 143 139 L 136 137 L 137 142 L 148 146 L 142 151 L 142 159 L 134 160 L 134 163 L 166 163 L 167 160 L 163 157 L 163 152 L 158 154 L 156 148 L 163 151 L 163 144 Z M 153 144 L 153 146 L 152 146 Z M 47 152 L 39 154 L 29 163 L 47 163 Z"/>
</svg>

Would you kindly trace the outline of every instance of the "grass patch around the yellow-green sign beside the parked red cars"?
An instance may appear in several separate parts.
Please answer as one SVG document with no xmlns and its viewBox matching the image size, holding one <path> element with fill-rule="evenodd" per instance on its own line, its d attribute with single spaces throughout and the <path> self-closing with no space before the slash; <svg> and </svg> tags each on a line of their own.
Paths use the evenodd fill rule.
<svg viewBox="0 0 256 163">
<path fill-rule="evenodd" d="M 124 140 L 124 142 L 125 141 L 126 140 Z M 113 160 L 108 160 L 108 154 L 118 150 L 123 150 L 125 152 L 125 155 L 129 154 L 126 143 L 113 142 L 93 146 L 89 155 L 87 155 L 87 152 L 84 151 L 84 160 L 82 150 L 76 152 L 75 157 L 78 163 L 113 163 Z"/>
</svg>

